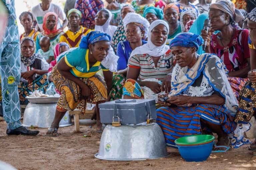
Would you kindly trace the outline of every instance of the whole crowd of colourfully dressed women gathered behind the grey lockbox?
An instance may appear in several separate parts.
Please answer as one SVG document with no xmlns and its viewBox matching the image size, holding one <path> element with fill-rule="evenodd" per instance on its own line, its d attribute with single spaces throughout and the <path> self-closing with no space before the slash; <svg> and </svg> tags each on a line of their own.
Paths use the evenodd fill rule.
<svg viewBox="0 0 256 170">
<path fill-rule="evenodd" d="M 42 0 L 42 7 L 49 3 Z M 229 150 L 230 142 L 248 143 L 241 127 L 256 117 L 255 0 L 240 9 L 230 0 L 107 3 L 104 9 L 100 0 L 77 0 L 66 19 L 48 11 L 42 23 L 34 13 L 19 17 L 25 30 L 20 103 L 28 104 L 26 96 L 34 90 L 47 93 L 54 86 L 60 94 L 47 135 L 57 136 L 64 114 L 84 112 L 87 103 L 96 104 L 96 130 L 102 132 L 98 104 L 155 99 L 169 146 L 185 135 L 212 132 L 218 135 L 214 152 Z M 68 28 L 59 26 L 59 19 L 64 26 L 67 20 Z M 256 149 L 256 140 L 250 149 Z"/>
</svg>

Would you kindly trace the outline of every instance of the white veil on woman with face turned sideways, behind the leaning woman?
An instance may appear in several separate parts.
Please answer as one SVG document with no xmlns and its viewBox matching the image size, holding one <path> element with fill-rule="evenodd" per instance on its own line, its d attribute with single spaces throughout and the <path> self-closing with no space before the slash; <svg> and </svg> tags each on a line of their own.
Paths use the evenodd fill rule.
<svg viewBox="0 0 256 170">
<path fill-rule="evenodd" d="M 109 15 L 108 20 L 105 22 L 103 26 L 95 25 L 95 31 L 101 31 L 103 33 L 107 33 L 108 35 L 110 35 L 112 39 L 117 27 L 110 25 L 110 21 L 112 19 L 112 13 L 107 9 L 104 9 L 104 10 L 108 12 L 108 15 Z"/>
</svg>

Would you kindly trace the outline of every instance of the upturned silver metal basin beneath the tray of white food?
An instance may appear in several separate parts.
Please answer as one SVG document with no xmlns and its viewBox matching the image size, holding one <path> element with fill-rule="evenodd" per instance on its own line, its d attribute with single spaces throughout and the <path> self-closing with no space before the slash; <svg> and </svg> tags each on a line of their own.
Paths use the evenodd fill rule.
<svg viewBox="0 0 256 170">
<path fill-rule="evenodd" d="M 32 125 L 39 128 L 49 128 L 54 119 L 56 106 L 57 103 L 29 103 L 24 112 L 23 126 L 31 127 Z M 68 115 L 68 112 L 66 112 L 60 121 L 59 127 L 70 125 L 73 125 L 71 117 Z"/>
</svg>

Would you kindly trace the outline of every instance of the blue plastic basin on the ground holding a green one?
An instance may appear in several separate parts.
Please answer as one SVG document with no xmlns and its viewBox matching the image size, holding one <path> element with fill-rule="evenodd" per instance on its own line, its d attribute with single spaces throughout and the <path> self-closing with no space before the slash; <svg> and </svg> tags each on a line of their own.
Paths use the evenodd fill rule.
<svg viewBox="0 0 256 170">
<path fill-rule="evenodd" d="M 201 162 L 206 161 L 212 151 L 213 142 L 195 145 L 195 146 L 182 146 L 176 145 L 179 149 L 180 155 L 187 162 Z"/>
</svg>

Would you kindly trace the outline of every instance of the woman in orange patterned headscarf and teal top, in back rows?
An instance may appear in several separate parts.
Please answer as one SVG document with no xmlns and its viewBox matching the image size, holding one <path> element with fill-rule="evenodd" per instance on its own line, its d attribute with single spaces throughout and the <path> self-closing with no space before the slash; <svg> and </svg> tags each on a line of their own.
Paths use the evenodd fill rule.
<svg viewBox="0 0 256 170">
<path fill-rule="evenodd" d="M 166 5 L 164 8 L 164 18 L 169 24 L 169 33 L 167 44 L 179 33 L 181 33 L 181 25 L 179 19 L 179 8 L 174 4 Z"/>
</svg>

